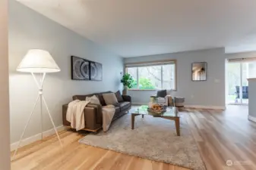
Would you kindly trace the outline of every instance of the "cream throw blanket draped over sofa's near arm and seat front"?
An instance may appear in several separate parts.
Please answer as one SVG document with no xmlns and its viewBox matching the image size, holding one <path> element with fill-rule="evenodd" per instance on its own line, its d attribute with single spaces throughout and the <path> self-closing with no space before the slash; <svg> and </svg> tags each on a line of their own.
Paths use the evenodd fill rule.
<svg viewBox="0 0 256 170">
<path fill-rule="evenodd" d="M 89 100 L 74 100 L 68 104 L 66 119 L 71 122 L 71 128 L 75 128 L 77 131 L 85 127 L 84 122 L 84 107 L 90 103 Z M 103 131 L 108 131 L 109 125 L 115 115 L 115 107 L 113 105 L 107 105 L 102 108 L 103 111 Z"/>
</svg>

